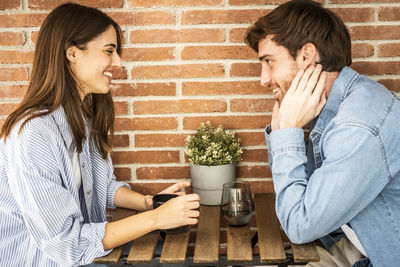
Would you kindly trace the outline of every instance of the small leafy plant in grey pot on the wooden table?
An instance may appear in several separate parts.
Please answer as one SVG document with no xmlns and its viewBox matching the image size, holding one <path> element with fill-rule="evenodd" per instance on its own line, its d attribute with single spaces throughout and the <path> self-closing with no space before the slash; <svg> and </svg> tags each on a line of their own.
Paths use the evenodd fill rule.
<svg viewBox="0 0 400 267">
<path fill-rule="evenodd" d="M 222 186 L 236 179 L 236 162 L 243 153 L 240 139 L 231 130 L 201 123 L 195 135 L 188 136 L 185 153 L 190 161 L 193 192 L 200 204 L 220 205 Z"/>
</svg>

